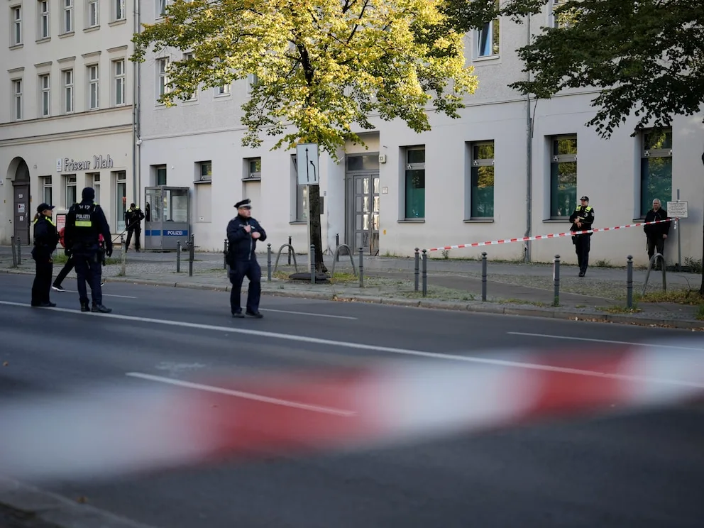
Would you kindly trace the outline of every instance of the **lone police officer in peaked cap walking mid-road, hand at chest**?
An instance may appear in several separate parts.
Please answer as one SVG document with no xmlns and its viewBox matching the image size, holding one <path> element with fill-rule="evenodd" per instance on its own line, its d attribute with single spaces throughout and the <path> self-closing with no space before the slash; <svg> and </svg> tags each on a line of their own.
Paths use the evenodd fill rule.
<svg viewBox="0 0 704 528">
<path fill-rule="evenodd" d="M 230 265 L 230 308 L 232 317 L 245 317 L 240 305 L 240 295 L 244 277 L 249 279 L 247 310 L 249 317 L 261 319 L 259 299 L 261 297 L 262 270 L 257 262 L 255 247 L 257 241 L 266 240 L 266 232 L 259 222 L 251 217 L 252 207 L 249 199 L 235 204 L 237 216 L 227 224 L 228 255 Z"/>
</svg>

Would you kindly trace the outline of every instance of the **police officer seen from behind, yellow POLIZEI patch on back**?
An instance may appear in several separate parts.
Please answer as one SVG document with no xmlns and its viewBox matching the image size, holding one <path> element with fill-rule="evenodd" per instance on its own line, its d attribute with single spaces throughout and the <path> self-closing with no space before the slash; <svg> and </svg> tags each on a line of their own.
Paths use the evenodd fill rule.
<svg viewBox="0 0 704 528">
<path fill-rule="evenodd" d="M 103 210 L 93 203 L 95 191 L 86 187 L 82 192 L 79 204 L 73 204 L 66 216 L 64 242 L 66 254 L 73 255 L 78 277 L 78 295 L 81 302 L 81 312 L 99 312 L 107 314 L 110 308 L 103 306 L 103 294 L 100 287 L 101 255 L 99 238 L 105 239 L 106 255 L 112 255 L 112 240 L 110 226 Z M 86 281 L 90 285 L 93 298 L 92 307 L 88 307 L 88 292 Z"/>
</svg>

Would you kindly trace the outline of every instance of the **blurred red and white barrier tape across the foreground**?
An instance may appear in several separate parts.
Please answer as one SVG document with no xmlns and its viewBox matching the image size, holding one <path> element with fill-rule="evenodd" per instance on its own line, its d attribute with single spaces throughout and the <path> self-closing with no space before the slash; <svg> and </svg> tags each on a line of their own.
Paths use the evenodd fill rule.
<svg viewBox="0 0 704 528">
<path fill-rule="evenodd" d="M 654 343 L 657 344 L 657 343 Z M 0 407 L 0 474 L 105 478 L 257 453 L 363 449 L 622 412 L 704 395 L 704 341 L 474 363 L 384 363 L 307 375 L 120 385 Z"/>
</svg>

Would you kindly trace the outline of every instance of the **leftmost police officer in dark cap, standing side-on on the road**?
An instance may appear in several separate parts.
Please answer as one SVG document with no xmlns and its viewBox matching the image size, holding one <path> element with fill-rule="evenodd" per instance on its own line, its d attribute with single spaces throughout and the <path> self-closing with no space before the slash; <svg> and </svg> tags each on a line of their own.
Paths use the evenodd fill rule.
<svg viewBox="0 0 704 528">
<path fill-rule="evenodd" d="M 55 307 L 56 303 L 49 299 L 51 291 L 51 276 L 53 274 L 54 253 L 59 235 L 51 219 L 53 205 L 40 204 L 34 217 L 34 247 L 32 258 L 36 264 L 36 275 L 32 285 L 32 306 L 40 308 Z"/>
</svg>

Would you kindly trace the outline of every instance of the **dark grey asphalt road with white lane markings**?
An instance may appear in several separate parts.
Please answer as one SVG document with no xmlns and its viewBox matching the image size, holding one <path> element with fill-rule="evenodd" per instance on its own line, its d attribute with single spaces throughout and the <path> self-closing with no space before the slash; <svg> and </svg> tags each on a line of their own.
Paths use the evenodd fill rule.
<svg viewBox="0 0 704 528">
<path fill-rule="evenodd" d="M 53 292 L 53 300 L 76 312 L 28 307 L 31 280 L 0 274 L 4 400 L 124 380 L 128 372 L 188 379 L 405 359 L 405 351 L 591 353 L 691 336 L 285 297 L 263 297 L 263 320 L 234 320 L 226 293 L 115 283 L 104 287 L 114 317 L 97 317 L 77 312 L 74 292 Z M 362 453 L 214 463 L 49 489 L 160 528 L 700 527 L 703 417 L 691 406 L 551 420 Z"/>
</svg>

